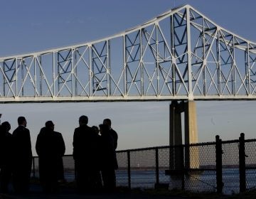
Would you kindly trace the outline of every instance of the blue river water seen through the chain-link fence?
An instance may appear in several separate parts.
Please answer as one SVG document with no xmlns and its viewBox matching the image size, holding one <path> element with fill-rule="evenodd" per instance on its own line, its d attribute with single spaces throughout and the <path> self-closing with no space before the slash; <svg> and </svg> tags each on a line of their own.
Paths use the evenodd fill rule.
<svg viewBox="0 0 256 199">
<path fill-rule="evenodd" d="M 116 171 L 117 186 L 128 187 L 127 170 Z M 74 173 L 65 173 L 67 181 L 74 181 Z M 256 170 L 246 171 L 247 188 L 256 188 Z M 184 177 L 185 190 L 194 192 L 215 192 L 216 191 L 215 171 L 204 171 L 200 174 L 189 174 Z M 156 183 L 156 172 L 154 170 L 132 170 L 132 188 L 154 188 Z M 169 189 L 181 189 L 181 176 L 166 176 L 164 170 L 159 170 L 159 183 L 166 183 Z M 223 193 L 239 193 L 239 170 L 238 168 L 223 169 Z"/>
</svg>

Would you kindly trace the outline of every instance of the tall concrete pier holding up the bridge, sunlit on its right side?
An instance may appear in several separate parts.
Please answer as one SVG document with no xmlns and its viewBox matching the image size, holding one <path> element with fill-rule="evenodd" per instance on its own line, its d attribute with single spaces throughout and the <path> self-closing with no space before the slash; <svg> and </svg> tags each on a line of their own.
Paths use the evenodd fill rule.
<svg viewBox="0 0 256 199">
<path fill-rule="evenodd" d="M 172 101 L 170 104 L 170 146 L 182 144 L 182 119 L 184 112 L 184 141 L 185 144 L 198 143 L 198 129 L 196 119 L 196 102 Z M 183 155 L 183 153 L 185 153 Z M 185 163 L 184 159 L 185 158 Z M 174 147 L 170 150 L 170 170 L 185 168 L 199 168 L 198 146 Z"/>
</svg>

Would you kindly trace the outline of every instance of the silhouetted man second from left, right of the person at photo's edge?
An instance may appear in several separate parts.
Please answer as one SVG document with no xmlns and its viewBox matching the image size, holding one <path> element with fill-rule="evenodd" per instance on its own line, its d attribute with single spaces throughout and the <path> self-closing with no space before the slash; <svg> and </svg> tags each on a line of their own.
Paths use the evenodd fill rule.
<svg viewBox="0 0 256 199">
<path fill-rule="evenodd" d="M 25 117 L 18 117 L 18 127 L 14 130 L 14 173 L 13 184 L 16 193 L 28 193 L 31 177 L 32 151 L 31 136 L 26 129 Z"/>
</svg>

